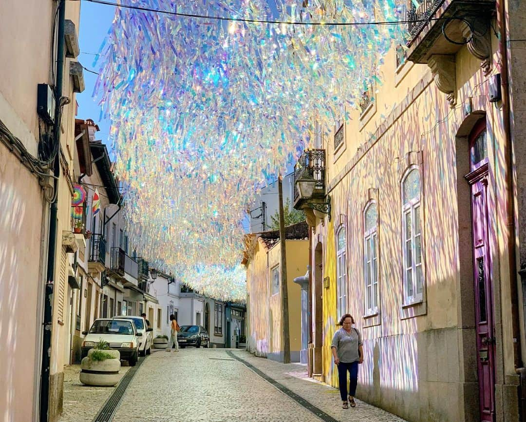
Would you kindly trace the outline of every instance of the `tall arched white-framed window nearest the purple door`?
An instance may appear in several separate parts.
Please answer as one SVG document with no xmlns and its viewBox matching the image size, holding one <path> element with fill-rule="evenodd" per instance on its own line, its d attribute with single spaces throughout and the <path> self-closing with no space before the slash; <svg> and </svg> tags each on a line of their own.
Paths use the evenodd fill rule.
<svg viewBox="0 0 526 422">
<path fill-rule="evenodd" d="M 404 303 L 421 302 L 423 296 L 423 253 L 420 206 L 420 173 L 411 167 L 402 180 L 402 248 Z"/>
</svg>

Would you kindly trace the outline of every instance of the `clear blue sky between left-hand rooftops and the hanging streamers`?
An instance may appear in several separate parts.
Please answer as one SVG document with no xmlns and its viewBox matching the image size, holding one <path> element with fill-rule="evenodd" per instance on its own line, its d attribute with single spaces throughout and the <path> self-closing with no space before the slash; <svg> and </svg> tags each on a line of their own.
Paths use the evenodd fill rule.
<svg viewBox="0 0 526 422">
<path fill-rule="evenodd" d="M 93 61 L 109 27 L 112 25 L 114 14 L 115 7 L 113 6 L 82 2 L 80 6 L 79 61 L 84 67 L 94 71 L 98 70 L 93 67 Z M 100 107 L 92 97 L 96 80 L 97 75 L 84 71 L 86 89 L 83 93 L 77 94 L 77 117 L 93 119 L 100 128 L 96 138 L 102 139 L 106 143 L 109 134 L 109 121 L 100 119 Z"/>
</svg>

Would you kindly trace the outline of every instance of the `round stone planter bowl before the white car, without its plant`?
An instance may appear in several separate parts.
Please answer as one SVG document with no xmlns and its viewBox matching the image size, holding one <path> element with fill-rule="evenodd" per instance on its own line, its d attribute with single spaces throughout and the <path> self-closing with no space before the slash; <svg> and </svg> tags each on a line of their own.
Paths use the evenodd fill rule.
<svg viewBox="0 0 526 422">
<path fill-rule="evenodd" d="M 88 351 L 88 356 L 80 362 L 80 382 L 86 385 L 113 387 L 119 382 L 120 353 L 118 350 L 104 350 L 113 359 L 91 360 L 94 349 Z"/>
</svg>

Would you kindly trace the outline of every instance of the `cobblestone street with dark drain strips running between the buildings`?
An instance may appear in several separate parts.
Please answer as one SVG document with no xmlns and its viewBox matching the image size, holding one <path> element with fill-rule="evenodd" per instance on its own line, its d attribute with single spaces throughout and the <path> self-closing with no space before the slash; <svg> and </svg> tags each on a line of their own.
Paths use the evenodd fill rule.
<svg viewBox="0 0 526 422">
<path fill-rule="evenodd" d="M 257 368 L 278 385 L 271 385 L 249 369 L 243 361 Z M 126 369 L 127 367 L 123 367 L 121 371 Z M 309 407 L 319 409 L 314 411 L 320 417 L 278 388 L 288 389 L 292 394 L 306 400 Z M 100 388 L 80 387 L 80 390 L 76 391 L 77 394 L 85 395 L 88 389 Z M 118 388 L 115 391 L 117 390 Z M 113 418 L 96 418 L 99 411 L 97 406 L 71 394 L 66 389 L 65 406 L 67 403 L 75 405 L 69 409 L 65 407 L 60 422 L 404 422 L 359 400 L 355 409 L 342 409 L 338 391 L 307 378 L 304 365 L 282 365 L 240 350 L 190 348 L 182 349 L 179 353 L 164 350 L 153 353 L 141 363 Z M 99 406 L 102 407 L 103 403 L 104 401 L 100 401 Z M 83 406 L 90 405 L 92 415 L 89 415 L 86 408 L 82 409 Z M 133 419 L 130 419 L 130 415 L 133 415 Z"/>
</svg>

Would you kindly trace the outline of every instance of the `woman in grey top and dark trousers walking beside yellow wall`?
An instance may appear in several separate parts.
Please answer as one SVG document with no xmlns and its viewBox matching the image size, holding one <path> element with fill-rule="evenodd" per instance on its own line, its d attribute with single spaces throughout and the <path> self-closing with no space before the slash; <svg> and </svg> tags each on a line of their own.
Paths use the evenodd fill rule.
<svg viewBox="0 0 526 422">
<path fill-rule="evenodd" d="M 358 364 L 363 363 L 363 348 L 360 331 L 355 327 L 355 319 L 351 314 L 341 317 L 338 325 L 341 328 L 332 337 L 332 356 L 334 363 L 338 366 L 338 380 L 343 408 L 348 409 L 347 404 L 347 371 L 349 371 L 349 403 L 356 407 L 355 394 L 358 385 Z"/>
</svg>

